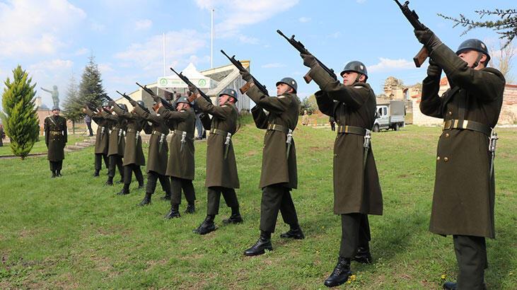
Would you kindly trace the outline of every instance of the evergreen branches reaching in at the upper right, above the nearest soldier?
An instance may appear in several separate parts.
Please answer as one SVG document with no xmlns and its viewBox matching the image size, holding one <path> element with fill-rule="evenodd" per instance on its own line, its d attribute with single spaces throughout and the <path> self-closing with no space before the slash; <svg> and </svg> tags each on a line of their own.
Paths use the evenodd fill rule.
<svg viewBox="0 0 517 290">
<path fill-rule="evenodd" d="M 465 35 L 469 30 L 473 28 L 491 28 L 495 30 L 496 33 L 500 34 L 499 38 L 506 39 L 506 45 L 513 40 L 513 38 L 517 35 L 517 9 L 495 9 L 494 11 L 489 10 L 480 10 L 475 11 L 480 15 L 480 18 L 483 16 L 496 16 L 499 20 L 496 21 L 473 21 L 470 18 L 466 18 L 463 14 L 460 14 L 460 18 L 454 18 L 450 16 L 443 16 L 438 13 L 438 16 L 446 18 L 448 20 L 453 21 L 455 24 L 453 27 L 461 25 L 465 27 L 465 31 L 463 31 L 462 35 Z"/>
</svg>

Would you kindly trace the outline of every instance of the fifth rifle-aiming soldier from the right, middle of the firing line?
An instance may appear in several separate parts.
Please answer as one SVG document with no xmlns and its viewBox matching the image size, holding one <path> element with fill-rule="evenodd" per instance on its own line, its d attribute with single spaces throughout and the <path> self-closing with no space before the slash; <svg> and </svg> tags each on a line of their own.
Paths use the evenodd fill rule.
<svg viewBox="0 0 517 290">
<path fill-rule="evenodd" d="M 158 114 L 165 120 L 172 122 L 173 136 L 170 138 L 170 153 L 167 163 L 167 172 L 170 176 L 170 211 L 165 219 L 180 217 L 181 190 L 187 199 L 187 214 L 195 211 L 194 202 L 194 124 L 196 117 L 194 110 L 186 97 L 175 101 L 176 110 L 170 111 L 158 103 Z"/>
</svg>

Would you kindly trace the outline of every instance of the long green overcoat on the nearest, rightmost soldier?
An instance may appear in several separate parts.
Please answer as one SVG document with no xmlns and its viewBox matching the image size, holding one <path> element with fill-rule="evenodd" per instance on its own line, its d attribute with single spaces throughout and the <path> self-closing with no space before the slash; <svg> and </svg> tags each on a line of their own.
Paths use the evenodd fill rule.
<svg viewBox="0 0 517 290">
<path fill-rule="evenodd" d="M 494 68 L 470 69 L 446 45 L 431 52 L 446 73 L 451 89 L 438 96 L 440 77 L 422 83 L 420 110 L 431 117 L 464 120 L 494 127 L 499 119 L 505 80 Z M 436 180 L 429 230 L 441 235 L 495 237 L 494 175 L 490 167 L 489 137 L 470 129 L 446 129 L 438 139 Z"/>
</svg>

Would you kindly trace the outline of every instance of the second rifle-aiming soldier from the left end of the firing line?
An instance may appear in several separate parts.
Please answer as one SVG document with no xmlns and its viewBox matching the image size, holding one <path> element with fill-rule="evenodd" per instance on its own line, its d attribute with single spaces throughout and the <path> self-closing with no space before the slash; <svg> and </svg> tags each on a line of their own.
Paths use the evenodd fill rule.
<svg viewBox="0 0 517 290">
<path fill-rule="evenodd" d="M 109 109 L 102 112 L 102 116 L 105 120 L 110 120 L 112 123 L 112 129 L 110 132 L 110 138 L 108 141 L 108 180 L 105 185 L 113 185 L 113 178 L 115 177 L 115 166 L 118 168 L 120 174 L 120 183 L 124 182 L 124 171 L 122 170 L 122 157 L 124 156 L 124 146 L 126 141 L 124 139 L 125 130 L 127 126 L 127 120 L 118 115 L 113 115 L 113 107 L 117 105 L 109 105 Z M 124 104 L 120 104 L 122 110 L 127 112 L 127 107 Z"/>
</svg>

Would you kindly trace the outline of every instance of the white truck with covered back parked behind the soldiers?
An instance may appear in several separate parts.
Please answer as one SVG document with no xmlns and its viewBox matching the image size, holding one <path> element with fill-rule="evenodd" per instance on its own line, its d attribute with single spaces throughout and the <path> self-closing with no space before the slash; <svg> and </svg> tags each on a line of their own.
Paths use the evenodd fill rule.
<svg viewBox="0 0 517 290">
<path fill-rule="evenodd" d="M 388 104 L 377 105 L 376 120 L 373 122 L 373 132 L 381 129 L 398 131 L 405 126 L 406 108 L 403 100 L 390 100 Z"/>
</svg>

